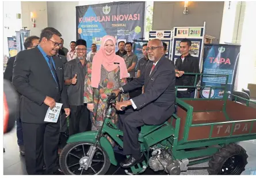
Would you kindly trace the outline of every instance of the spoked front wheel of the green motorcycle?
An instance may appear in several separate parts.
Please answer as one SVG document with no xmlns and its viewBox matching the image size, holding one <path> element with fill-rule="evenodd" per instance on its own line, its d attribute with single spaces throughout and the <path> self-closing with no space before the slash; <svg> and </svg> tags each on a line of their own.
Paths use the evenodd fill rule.
<svg viewBox="0 0 256 178">
<path fill-rule="evenodd" d="M 104 175 L 110 166 L 108 154 L 97 145 L 91 164 L 87 170 L 89 149 L 93 143 L 77 142 L 67 144 L 60 153 L 60 168 L 65 175 Z"/>
</svg>

